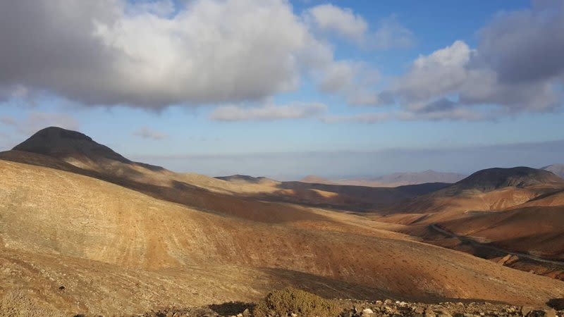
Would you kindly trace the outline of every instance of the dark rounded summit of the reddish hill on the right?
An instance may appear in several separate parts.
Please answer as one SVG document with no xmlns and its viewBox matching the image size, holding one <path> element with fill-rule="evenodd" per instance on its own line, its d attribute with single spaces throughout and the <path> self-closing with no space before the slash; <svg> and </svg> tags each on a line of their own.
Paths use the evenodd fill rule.
<svg viewBox="0 0 564 317">
<path fill-rule="evenodd" d="M 460 182 L 457 182 L 453 187 L 457 187 L 460 190 L 477 189 L 481 192 L 489 192 L 503 187 L 528 187 L 552 183 L 564 185 L 564 181 L 551 172 L 521 166 L 515 168 L 489 168 L 479 170 L 467 178 L 460 180 Z"/>
</svg>

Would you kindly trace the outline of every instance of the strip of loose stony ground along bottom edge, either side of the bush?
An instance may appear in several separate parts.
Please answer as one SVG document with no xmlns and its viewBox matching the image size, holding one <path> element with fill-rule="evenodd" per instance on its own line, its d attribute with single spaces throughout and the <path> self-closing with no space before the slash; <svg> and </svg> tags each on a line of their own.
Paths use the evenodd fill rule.
<svg viewBox="0 0 564 317">
<path fill-rule="evenodd" d="M 441 302 L 439 304 L 394 302 L 390 299 L 376 302 L 360 302 L 353 300 L 338 300 L 343 308 L 340 317 L 486 317 L 486 316 L 527 316 L 527 317 L 563 317 L 564 299 L 553 301 L 549 306 L 511 306 L 504 304 L 455 303 Z M 191 309 L 164 309 L 137 315 L 139 317 L 251 317 L 253 304 L 226 303 Z M 297 312 L 288 317 L 298 317 Z M 278 317 L 278 316 L 273 316 Z M 280 316 L 286 317 L 286 316 Z M 337 317 L 337 316 L 335 316 Z"/>
</svg>

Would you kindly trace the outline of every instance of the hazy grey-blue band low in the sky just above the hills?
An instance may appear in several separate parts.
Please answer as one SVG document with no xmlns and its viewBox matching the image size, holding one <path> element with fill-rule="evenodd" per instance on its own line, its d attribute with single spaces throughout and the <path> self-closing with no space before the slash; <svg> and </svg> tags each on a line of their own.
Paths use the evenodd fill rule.
<svg viewBox="0 0 564 317">
<path fill-rule="evenodd" d="M 127 155 L 126 155 L 127 156 Z M 383 149 L 381 151 L 309 151 L 254 154 L 187 154 L 127 156 L 183 173 L 210 176 L 251 175 L 299 180 L 307 175 L 329 179 L 378 177 L 434 170 L 470 175 L 485 168 L 542 168 L 564 161 L 564 140 L 539 143 L 446 149 Z M 226 168 L 226 166 L 232 166 Z M 223 168 L 223 169 L 221 169 Z M 298 171 L 298 173 L 292 173 Z"/>
</svg>

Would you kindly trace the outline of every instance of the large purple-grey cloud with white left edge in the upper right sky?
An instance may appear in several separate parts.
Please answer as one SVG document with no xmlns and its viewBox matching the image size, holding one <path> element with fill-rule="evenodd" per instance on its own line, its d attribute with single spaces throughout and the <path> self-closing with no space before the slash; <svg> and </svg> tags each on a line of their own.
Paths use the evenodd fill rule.
<svg viewBox="0 0 564 317">
<path fill-rule="evenodd" d="M 477 49 L 462 41 L 419 56 L 391 92 L 403 118 L 491 120 L 564 106 L 564 3 L 534 1 L 500 13 L 479 31 Z M 477 110 L 476 106 L 487 106 Z M 474 108 L 472 108 L 474 107 Z"/>
</svg>

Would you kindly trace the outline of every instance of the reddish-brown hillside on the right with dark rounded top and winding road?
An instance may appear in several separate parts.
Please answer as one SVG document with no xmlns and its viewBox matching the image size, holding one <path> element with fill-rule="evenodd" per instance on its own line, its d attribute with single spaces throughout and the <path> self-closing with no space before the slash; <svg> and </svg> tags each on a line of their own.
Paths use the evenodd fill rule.
<svg viewBox="0 0 564 317">
<path fill-rule="evenodd" d="M 371 218 L 406 225 L 398 231 L 442 247 L 564 279 L 563 192 L 564 182 L 546 170 L 492 168 Z"/>
</svg>

